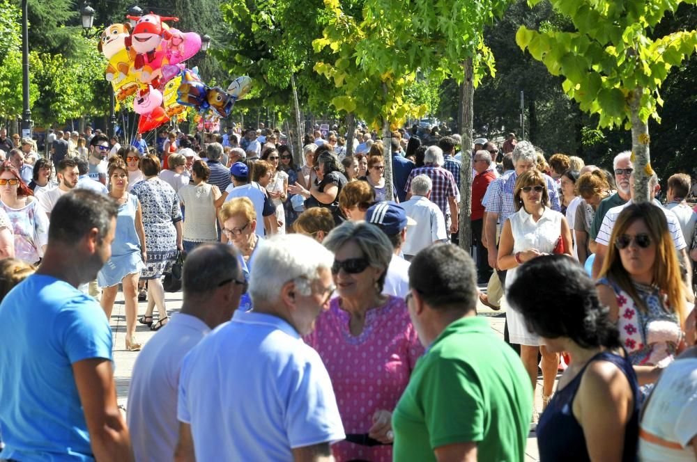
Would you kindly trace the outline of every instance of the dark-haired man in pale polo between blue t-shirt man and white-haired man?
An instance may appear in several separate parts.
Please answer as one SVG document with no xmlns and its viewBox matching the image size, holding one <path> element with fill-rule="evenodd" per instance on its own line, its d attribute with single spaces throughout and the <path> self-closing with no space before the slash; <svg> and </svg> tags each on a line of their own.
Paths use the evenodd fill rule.
<svg viewBox="0 0 697 462">
<path fill-rule="evenodd" d="M 183 267 L 181 312 L 138 355 L 128 392 L 128 427 L 137 461 L 174 459 L 179 371 L 210 330 L 229 321 L 247 290 L 234 247 L 202 244 Z"/>
</svg>

